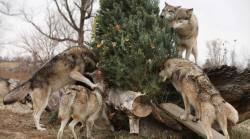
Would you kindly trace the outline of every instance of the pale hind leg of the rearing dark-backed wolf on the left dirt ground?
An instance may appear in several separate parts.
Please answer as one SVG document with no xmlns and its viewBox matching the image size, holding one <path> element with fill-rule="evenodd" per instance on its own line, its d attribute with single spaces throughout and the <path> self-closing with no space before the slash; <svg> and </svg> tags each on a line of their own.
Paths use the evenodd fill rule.
<svg viewBox="0 0 250 139">
<path fill-rule="evenodd" d="M 51 93 L 51 88 L 49 87 L 48 90 L 45 89 L 35 89 L 33 92 L 31 92 L 31 98 L 34 101 L 34 122 L 36 125 L 37 130 L 43 131 L 46 130 L 46 128 L 42 128 L 40 125 L 40 117 L 44 109 L 46 108 L 49 96 Z"/>
</svg>

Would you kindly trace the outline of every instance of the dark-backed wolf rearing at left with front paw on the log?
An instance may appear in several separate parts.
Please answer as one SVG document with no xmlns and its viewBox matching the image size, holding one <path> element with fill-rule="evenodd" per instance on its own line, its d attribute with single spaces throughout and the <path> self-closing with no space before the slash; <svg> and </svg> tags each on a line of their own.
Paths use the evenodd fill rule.
<svg viewBox="0 0 250 139">
<path fill-rule="evenodd" d="M 48 104 L 49 96 L 62 87 L 80 81 L 91 88 L 98 87 L 83 76 L 92 71 L 96 62 L 93 54 L 81 47 L 72 47 L 56 55 L 44 64 L 31 79 L 13 89 L 4 97 L 4 104 L 17 102 L 30 95 L 34 108 L 34 121 L 37 130 L 46 130 L 40 125 L 40 116 Z"/>
</svg>

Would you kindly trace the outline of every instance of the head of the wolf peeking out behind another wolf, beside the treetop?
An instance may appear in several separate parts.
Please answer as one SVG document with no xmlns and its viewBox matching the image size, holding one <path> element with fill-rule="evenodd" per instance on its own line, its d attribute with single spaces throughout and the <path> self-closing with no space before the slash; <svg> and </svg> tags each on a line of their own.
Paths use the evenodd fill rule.
<svg viewBox="0 0 250 139">
<path fill-rule="evenodd" d="M 163 8 L 160 17 L 162 18 L 166 18 L 168 20 L 168 22 L 172 22 L 174 20 L 174 13 L 175 11 L 180 8 L 181 6 L 172 6 L 169 5 L 165 2 L 165 7 Z"/>
</svg>

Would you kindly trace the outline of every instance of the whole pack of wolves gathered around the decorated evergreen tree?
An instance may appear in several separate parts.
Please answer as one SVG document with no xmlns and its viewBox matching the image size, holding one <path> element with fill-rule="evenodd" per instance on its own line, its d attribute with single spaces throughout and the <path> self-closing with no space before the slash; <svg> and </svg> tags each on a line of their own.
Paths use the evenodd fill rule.
<svg viewBox="0 0 250 139">
<path fill-rule="evenodd" d="M 193 9 L 172 6 L 165 2 L 160 17 L 169 22 L 175 30 L 176 45 L 179 55 L 186 50 L 185 59 L 171 58 L 165 61 L 159 78 L 173 84 L 181 93 L 185 113 L 180 115 L 181 120 L 187 120 L 191 106 L 195 110 L 193 122 L 200 120 L 207 135 L 212 139 L 211 125 L 216 120 L 224 136 L 229 139 L 227 120 L 237 123 L 239 117 L 237 110 L 227 103 L 218 90 L 210 82 L 207 75 L 197 66 L 197 36 L 198 22 Z M 189 61 L 191 53 L 195 63 Z M 86 127 L 87 138 L 93 138 L 93 126 L 98 129 L 114 131 L 108 109 L 102 94 L 107 87 L 104 84 L 102 70 L 96 66 L 98 61 L 91 50 L 82 47 L 72 47 L 56 55 L 44 64 L 28 81 L 21 84 L 17 79 L 0 77 L 0 97 L 4 105 L 12 103 L 32 103 L 34 109 L 34 123 L 37 130 L 46 130 L 40 124 L 40 117 L 48 104 L 50 95 L 61 88 L 68 86 L 64 92 L 59 106 L 58 118 L 61 127 L 57 138 L 61 139 L 63 130 L 69 123 L 69 131 L 73 138 L 77 138 L 74 131 L 75 125 L 80 122 Z M 92 81 L 86 76 L 90 76 Z M 89 86 L 76 85 L 76 81 Z"/>
</svg>

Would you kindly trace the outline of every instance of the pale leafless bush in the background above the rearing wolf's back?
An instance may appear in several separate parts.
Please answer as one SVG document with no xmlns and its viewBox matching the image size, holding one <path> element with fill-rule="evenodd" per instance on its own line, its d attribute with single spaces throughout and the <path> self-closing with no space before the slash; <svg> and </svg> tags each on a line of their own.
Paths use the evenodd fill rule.
<svg viewBox="0 0 250 139">
<path fill-rule="evenodd" d="M 58 41 L 51 40 L 38 31 L 31 35 L 20 33 L 19 40 L 15 45 L 32 54 L 34 61 L 39 60 L 44 64 L 56 54 Z"/>
</svg>

